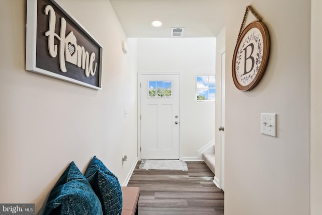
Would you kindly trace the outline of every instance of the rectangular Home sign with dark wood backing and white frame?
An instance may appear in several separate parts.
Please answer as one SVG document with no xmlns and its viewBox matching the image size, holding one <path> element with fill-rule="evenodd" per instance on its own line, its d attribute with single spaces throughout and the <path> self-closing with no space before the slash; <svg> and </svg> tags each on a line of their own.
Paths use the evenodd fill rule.
<svg viewBox="0 0 322 215">
<path fill-rule="evenodd" d="M 102 89 L 102 46 L 53 0 L 27 0 L 26 70 Z"/>
</svg>

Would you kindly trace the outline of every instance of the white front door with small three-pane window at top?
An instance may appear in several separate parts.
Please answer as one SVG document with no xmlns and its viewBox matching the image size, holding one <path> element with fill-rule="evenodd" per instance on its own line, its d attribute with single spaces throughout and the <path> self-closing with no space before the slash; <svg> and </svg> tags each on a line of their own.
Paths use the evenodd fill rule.
<svg viewBox="0 0 322 215">
<path fill-rule="evenodd" d="M 179 75 L 141 75 L 141 159 L 179 159 Z"/>
</svg>

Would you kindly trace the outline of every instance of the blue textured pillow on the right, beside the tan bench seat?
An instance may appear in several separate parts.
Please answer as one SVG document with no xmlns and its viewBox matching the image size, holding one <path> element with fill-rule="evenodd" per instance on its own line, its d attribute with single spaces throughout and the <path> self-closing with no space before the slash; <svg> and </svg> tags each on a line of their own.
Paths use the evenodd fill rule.
<svg viewBox="0 0 322 215">
<path fill-rule="evenodd" d="M 101 201 L 103 214 L 121 214 L 123 199 L 119 180 L 96 156 L 90 162 L 85 177 Z"/>
</svg>

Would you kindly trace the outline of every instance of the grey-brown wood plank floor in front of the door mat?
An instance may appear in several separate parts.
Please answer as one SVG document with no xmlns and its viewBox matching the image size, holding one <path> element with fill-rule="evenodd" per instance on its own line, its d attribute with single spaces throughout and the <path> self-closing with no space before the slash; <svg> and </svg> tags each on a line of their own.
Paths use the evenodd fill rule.
<svg viewBox="0 0 322 215">
<path fill-rule="evenodd" d="M 140 187 L 139 215 L 223 214 L 224 194 L 204 162 L 186 162 L 188 171 L 139 170 L 127 186 Z"/>
</svg>

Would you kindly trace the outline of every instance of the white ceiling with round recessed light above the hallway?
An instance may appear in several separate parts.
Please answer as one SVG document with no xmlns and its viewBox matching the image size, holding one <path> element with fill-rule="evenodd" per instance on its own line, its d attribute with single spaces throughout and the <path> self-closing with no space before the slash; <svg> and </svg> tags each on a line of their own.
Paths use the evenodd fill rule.
<svg viewBox="0 0 322 215">
<path fill-rule="evenodd" d="M 216 37 L 225 23 L 224 0 L 110 0 L 128 37 L 170 37 L 184 27 L 183 37 Z M 161 27 L 151 26 L 161 20 Z"/>
</svg>

